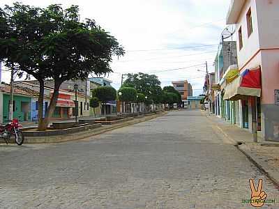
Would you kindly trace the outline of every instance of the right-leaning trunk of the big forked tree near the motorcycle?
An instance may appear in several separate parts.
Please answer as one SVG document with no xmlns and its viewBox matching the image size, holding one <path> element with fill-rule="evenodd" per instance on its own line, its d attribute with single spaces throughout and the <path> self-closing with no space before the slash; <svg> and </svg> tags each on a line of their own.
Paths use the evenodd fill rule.
<svg viewBox="0 0 279 209">
<path fill-rule="evenodd" d="M 50 106 L 48 107 L 47 113 L 45 114 L 45 118 L 43 119 L 43 123 L 41 126 L 42 130 L 47 130 L 47 125 L 48 125 L 48 123 L 50 123 L 50 118 L 52 117 L 52 114 L 54 112 L 56 102 L 58 99 L 60 85 L 61 85 L 61 82 L 54 81 L 54 91 L 52 94 L 52 98 L 50 100 Z"/>
</svg>

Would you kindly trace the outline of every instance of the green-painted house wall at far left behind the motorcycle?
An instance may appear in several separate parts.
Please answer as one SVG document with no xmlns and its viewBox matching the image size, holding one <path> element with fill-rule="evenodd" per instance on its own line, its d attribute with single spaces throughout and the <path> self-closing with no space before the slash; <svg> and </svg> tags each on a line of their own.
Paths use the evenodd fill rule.
<svg viewBox="0 0 279 209">
<path fill-rule="evenodd" d="M 9 114 L 9 100 L 10 95 L 3 94 L 3 122 L 8 121 Z M 31 97 L 24 97 L 20 95 L 14 95 L 15 111 L 13 111 L 13 118 L 17 118 L 19 121 L 31 121 Z M 22 102 L 28 106 L 27 111 L 24 113 Z"/>
</svg>

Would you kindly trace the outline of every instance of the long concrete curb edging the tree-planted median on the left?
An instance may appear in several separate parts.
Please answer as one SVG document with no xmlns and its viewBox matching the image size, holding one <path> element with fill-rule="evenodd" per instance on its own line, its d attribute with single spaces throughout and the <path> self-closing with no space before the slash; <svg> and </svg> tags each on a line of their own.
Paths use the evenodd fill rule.
<svg viewBox="0 0 279 209">
<path fill-rule="evenodd" d="M 123 123 L 116 123 L 115 125 L 112 125 L 111 127 L 98 127 L 93 130 L 87 130 L 84 132 L 78 132 L 73 133 L 73 134 L 66 134 L 66 135 L 59 135 L 59 136 L 53 136 L 53 137 L 45 137 L 44 139 L 36 139 L 36 137 L 29 138 L 26 141 L 24 141 L 24 144 L 47 144 L 47 143 L 62 143 L 66 141 L 76 141 L 76 140 L 81 140 L 81 139 L 86 139 L 89 137 L 96 136 L 98 134 L 103 134 L 104 132 L 109 132 L 112 130 L 116 130 L 121 127 L 126 127 L 129 125 L 135 125 L 137 123 L 142 123 L 144 121 L 149 121 L 152 120 L 153 118 L 158 118 L 160 116 L 165 116 L 167 112 L 162 112 L 160 114 L 154 114 L 152 116 L 146 116 L 144 118 L 138 118 L 132 121 L 126 121 Z"/>
</svg>

